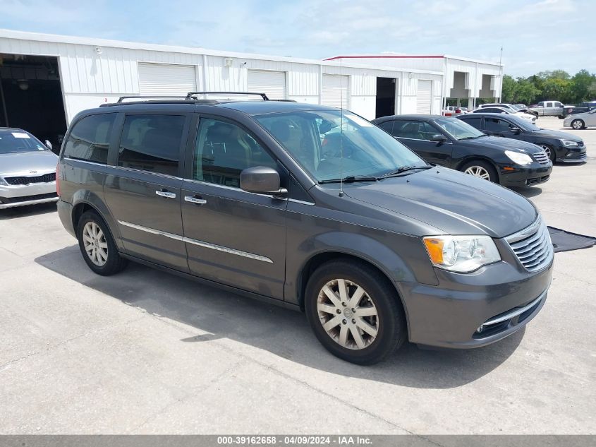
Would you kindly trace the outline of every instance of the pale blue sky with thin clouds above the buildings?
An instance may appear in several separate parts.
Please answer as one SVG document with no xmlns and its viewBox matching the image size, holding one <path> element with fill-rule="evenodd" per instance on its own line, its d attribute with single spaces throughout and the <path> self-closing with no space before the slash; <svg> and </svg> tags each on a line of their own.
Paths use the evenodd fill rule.
<svg viewBox="0 0 596 447">
<path fill-rule="evenodd" d="M 451 54 L 596 71 L 596 0 L 0 0 L 0 28 L 322 59 Z"/>
</svg>

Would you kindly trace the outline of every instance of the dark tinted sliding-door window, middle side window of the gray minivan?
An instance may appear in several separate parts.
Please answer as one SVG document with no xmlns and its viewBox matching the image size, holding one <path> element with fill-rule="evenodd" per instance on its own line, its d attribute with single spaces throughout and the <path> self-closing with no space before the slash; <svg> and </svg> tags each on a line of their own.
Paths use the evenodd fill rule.
<svg viewBox="0 0 596 447">
<path fill-rule="evenodd" d="M 128 115 L 118 150 L 118 166 L 178 175 L 178 158 L 186 117 Z"/>
</svg>

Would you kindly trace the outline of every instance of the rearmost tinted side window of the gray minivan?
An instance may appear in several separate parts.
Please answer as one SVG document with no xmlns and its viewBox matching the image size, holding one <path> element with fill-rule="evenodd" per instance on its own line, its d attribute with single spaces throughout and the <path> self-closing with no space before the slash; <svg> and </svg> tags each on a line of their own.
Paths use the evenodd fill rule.
<svg viewBox="0 0 596 447">
<path fill-rule="evenodd" d="M 115 113 L 90 115 L 80 119 L 68 136 L 64 156 L 76 160 L 106 163 L 109 138 L 115 119 Z"/>
</svg>

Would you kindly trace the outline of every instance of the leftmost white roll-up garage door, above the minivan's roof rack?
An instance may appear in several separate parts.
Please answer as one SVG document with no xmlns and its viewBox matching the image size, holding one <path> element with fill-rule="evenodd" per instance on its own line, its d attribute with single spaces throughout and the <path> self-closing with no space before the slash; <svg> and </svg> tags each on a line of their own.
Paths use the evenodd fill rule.
<svg viewBox="0 0 596 447">
<path fill-rule="evenodd" d="M 197 90 L 195 66 L 139 63 L 141 95 L 186 95 Z"/>
</svg>

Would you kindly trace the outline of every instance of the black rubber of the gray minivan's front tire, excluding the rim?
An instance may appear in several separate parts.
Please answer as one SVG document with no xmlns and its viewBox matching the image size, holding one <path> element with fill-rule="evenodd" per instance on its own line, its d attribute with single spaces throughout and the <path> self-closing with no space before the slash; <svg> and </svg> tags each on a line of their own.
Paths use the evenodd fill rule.
<svg viewBox="0 0 596 447">
<path fill-rule="evenodd" d="M 369 345 L 360 349 L 344 347 L 334 340 L 323 328 L 322 318 L 317 310 L 317 300 L 324 285 L 340 278 L 360 285 L 377 309 L 377 335 Z M 406 340 L 406 318 L 395 287 L 382 273 L 362 262 L 338 259 L 317 268 L 306 287 L 305 311 L 310 326 L 321 344 L 336 357 L 347 362 L 375 364 L 392 354 Z"/>
</svg>

